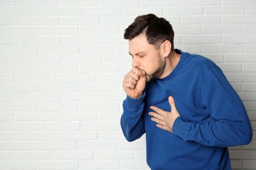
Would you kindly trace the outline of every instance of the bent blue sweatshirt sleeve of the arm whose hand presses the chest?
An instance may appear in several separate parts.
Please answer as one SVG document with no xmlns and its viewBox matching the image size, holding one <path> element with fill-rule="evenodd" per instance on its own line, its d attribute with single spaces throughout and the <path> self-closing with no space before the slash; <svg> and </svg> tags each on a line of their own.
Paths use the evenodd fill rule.
<svg viewBox="0 0 256 170">
<path fill-rule="evenodd" d="M 202 86 L 202 107 L 212 122 L 184 122 L 181 117 L 173 124 L 173 133 L 184 141 L 206 146 L 238 146 L 252 139 L 252 128 L 242 100 L 219 67 L 209 71 Z"/>
</svg>

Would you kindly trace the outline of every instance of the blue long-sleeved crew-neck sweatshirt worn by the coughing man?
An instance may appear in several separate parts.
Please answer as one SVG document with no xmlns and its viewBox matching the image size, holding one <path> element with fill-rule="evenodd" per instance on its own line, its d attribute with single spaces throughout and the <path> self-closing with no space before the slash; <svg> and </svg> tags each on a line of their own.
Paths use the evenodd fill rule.
<svg viewBox="0 0 256 170">
<path fill-rule="evenodd" d="M 127 141 L 146 133 L 147 163 L 151 169 L 231 169 L 228 146 L 251 142 L 245 107 L 221 69 L 203 56 L 181 54 L 170 75 L 147 82 L 138 99 L 123 101 L 121 127 Z M 150 106 L 170 111 L 173 96 L 181 114 L 173 133 L 156 127 Z"/>
</svg>

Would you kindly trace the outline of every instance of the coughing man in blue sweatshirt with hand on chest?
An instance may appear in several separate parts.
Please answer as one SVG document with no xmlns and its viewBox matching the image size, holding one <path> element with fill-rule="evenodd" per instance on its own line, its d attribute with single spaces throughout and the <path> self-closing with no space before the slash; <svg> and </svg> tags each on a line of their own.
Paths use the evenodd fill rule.
<svg viewBox="0 0 256 170">
<path fill-rule="evenodd" d="M 173 37 L 154 14 L 125 29 L 133 69 L 123 80 L 123 134 L 146 133 L 151 169 L 231 169 L 227 147 L 252 138 L 244 105 L 213 61 L 174 49 Z"/>
</svg>

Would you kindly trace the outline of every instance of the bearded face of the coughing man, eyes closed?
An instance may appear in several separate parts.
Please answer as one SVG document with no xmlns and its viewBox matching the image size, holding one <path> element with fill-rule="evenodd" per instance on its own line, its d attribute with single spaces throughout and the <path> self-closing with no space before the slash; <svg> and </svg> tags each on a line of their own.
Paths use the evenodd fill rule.
<svg viewBox="0 0 256 170">
<path fill-rule="evenodd" d="M 147 81 L 159 78 L 165 69 L 160 50 L 148 43 L 144 33 L 129 41 L 129 54 L 133 56 L 133 67 L 145 71 Z"/>
</svg>

